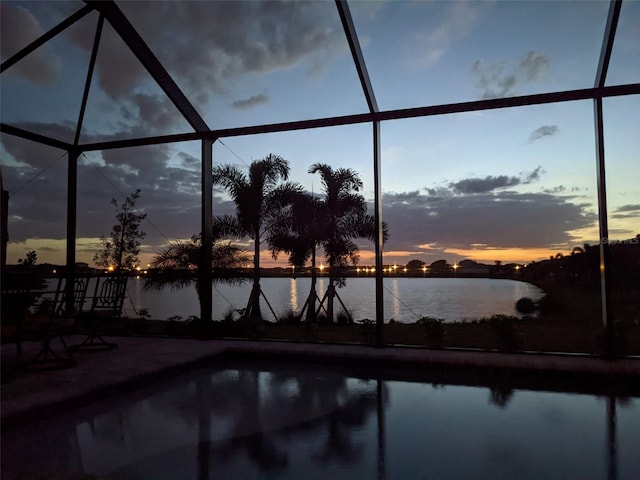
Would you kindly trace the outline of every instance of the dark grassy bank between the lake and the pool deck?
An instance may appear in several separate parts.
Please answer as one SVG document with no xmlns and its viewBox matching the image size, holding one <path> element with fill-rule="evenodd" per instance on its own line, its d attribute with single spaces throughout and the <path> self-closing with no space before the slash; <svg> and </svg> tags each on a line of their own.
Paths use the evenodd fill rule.
<svg viewBox="0 0 640 480">
<path fill-rule="evenodd" d="M 201 335 L 196 321 L 122 319 L 105 325 L 105 335 L 193 337 Z M 250 338 L 321 343 L 375 344 L 375 324 L 371 321 L 350 325 L 242 321 L 212 322 L 209 338 Z M 499 351 L 566 352 L 599 354 L 603 351 L 603 328 L 554 318 L 494 316 L 467 323 L 447 323 L 435 327 L 431 322 L 391 323 L 384 326 L 387 345 L 426 348 L 469 348 Z M 616 334 L 616 351 L 640 355 L 640 326 L 625 324 Z"/>
</svg>

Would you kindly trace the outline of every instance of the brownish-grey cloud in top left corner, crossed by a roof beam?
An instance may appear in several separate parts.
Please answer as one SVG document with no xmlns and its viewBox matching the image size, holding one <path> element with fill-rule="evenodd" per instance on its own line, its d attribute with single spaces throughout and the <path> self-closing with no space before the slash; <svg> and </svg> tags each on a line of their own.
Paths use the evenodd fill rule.
<svg viewBox="0 0 640 480">
<path fill-rule="evenodd" d="M 44 30 L 40 22 L 25 8 L 2 5 L 0 53 L 2 61 L 7 60 L 22 48 L 40 37 Z M 60 72 L 60 58 L 48 52 L 43 46 L 31 52 L 7 72 L 15 72 L 34 83 L 52 83 Z"/>
</svg>

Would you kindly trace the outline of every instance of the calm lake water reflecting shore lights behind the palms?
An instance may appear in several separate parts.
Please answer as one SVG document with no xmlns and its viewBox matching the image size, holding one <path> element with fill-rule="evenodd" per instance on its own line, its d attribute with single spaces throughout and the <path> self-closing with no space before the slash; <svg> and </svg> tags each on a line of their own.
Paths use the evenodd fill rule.
<svg viewBox="0 0 640 480">
<path fill-rule="evenodd" d="M 311 279 L 265 278 L 262 290 L 276 315 L 291 310 L 299 312 L 309 295 Z M 317 292 L 320 298 L 328 285 L 327 278 L 319 278 Z M 144 279 L 132 278 L 129 298 L 125 300 L 124 314 L 135 317 L 142 308 L 149 310 L 154 319 L 167 319 L 174 315 L 183 318 L 199 315 L 200 307 L 195 288 L 172 291 L 145 291 Z M 222 319 L 229 309 L 246 307 L 251 282 L 244 286 L 214 285 L 213 317 Z M 375 318 L 375 281 L 372 278 L 348 278 L 338 295 L 354 320 Z M 443 318 L 446 321 L 473 320 L 494 314 L 516 315 L 515 302 L 522 297 L 538 300 L 543 292 L 525 282 L 488 278 L 385 278 L 384 318 L 399 322 L 415 322 L 422 316 Z M 342 306 L 336 301 L 335 311 Z M 262 299 L 262 314 L 274 320 Z"/>
</svg>

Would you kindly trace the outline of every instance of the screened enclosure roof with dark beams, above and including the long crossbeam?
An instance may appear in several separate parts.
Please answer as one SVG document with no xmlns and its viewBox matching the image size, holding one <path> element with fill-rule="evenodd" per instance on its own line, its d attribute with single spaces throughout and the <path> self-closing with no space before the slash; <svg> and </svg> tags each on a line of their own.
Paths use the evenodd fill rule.
<svg viewBox="0 0 640 480">
<path fill-rule="evenodd" d="M 95 150 L 640 93 L 638 2 L 2 4 L 2 132 Z"/>
</svg>

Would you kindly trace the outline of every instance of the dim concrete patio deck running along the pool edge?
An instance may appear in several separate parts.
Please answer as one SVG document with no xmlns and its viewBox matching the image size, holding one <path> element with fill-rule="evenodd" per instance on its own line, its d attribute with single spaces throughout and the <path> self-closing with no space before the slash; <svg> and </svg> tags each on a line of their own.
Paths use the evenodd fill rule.
<svg viewBox="0 0 640 480">
<path fill-rule="evenodd" d="M 79 341 L 69 338 L 70 343 Z M 119 347 L 75 354 L 76 366 L 50 372 L 15 371 L 2 385 L 2 428 L 9 428 L 85 405 L 110 394 L 136 388 L 197 366 L 237 356 L 252 360 L 310 361 L 321 364 L 393 368 L 416 372 L 429 368 L 510 371 L 516 376 L 561 376 L 588 379 L 594 384 L 614 382 L 627 392 L 640 388 L 640 360 L 607 361 L 575 355 L 505 354 L 423 348 L 374 348 L 275 341 L 114 337 Z M 3 374 L 31 358 L 38 344 L 26 343 L 21 357 L 15 345 L 2 345 Z M 636 395 L 637 393 L 633 393 Z"/>
</svg>

